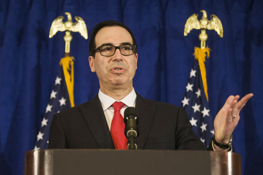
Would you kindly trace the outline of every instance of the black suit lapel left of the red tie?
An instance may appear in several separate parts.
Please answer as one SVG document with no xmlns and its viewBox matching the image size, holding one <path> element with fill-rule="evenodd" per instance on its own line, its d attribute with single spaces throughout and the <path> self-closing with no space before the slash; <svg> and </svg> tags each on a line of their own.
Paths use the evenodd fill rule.
<svg viewBox="0 0 263 175">
<path fill-rule="evenodd" d="M 96 95 L 95 99 L 87 102 L 81 110 L 88 128 L 99 147 L 115 149 L 99 96 Z"/>
</svg>

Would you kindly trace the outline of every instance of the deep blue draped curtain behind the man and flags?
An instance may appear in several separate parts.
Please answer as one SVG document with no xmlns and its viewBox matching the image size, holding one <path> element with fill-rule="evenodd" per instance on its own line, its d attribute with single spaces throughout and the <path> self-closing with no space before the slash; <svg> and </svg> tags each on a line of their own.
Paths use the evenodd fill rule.
<svg viewBox="0 0 263 175">
<path fill-rule="evenodd" d="M 0 174 L 23 174 L 24 154 L 34 148 L 49 96 L 64 55 L 62 32 L 49 38 L 52 21 L 64 12 L 81 16 L 88 35 L 99 22 L 127 25 L 138 44 L 134 88 L 144 98 L 180 106 L 200 47 L 199 31 L 183 36 L 193 13 L 217 15 L 224 36 L 208 31 L 211 57 L 206 62 L 213 118 L 228 96 L 253 92 L 233 133 L 242 156 L 243 174 L 260 174 L 263 165 L 263 2 L 254 1 L 1 1 L 0 4 Z M 65 16 L 65 15 L 64 15 Z M 65 17 L 66 18 L 66 17 Z M 208 17 L 210 20 L 210 17 Z M 200 18 L 199 18 L 200 20 Z M 99 90 L 88 65 L 88 43 L 73 33 L 75 103 L 91 100 Z"/>
</svg>

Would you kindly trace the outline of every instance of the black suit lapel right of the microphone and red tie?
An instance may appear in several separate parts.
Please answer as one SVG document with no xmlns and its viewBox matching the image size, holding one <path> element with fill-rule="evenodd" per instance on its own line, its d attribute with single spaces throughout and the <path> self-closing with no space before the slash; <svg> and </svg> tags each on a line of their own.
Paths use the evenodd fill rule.
<svg viewBox="0 0 263 175">
<path fill-rule="evenodd" d="M 136 98 L 136 112 L 139 116 L 140 134 L 137 138 L 138 149 L 142 149 L 148 137 L 149 130 L 154 119 L 156 105 L 148 100 L 143 99 L 138 93 Z"/>
</svg>

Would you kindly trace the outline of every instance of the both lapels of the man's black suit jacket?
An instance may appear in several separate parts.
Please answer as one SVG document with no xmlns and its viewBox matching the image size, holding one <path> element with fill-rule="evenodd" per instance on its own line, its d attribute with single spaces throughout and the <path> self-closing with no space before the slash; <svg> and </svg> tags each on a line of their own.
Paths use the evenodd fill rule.
<svg viewBox="0 0 263 175">
<path fill-rule="evenodd" d="M 149 130 L 154 119 L 156 105 L 148 100 L 143 99 L 138 93 L 136 98 L 136 112 L 139 116 L 139 129 L 140 134 L 137 138 L 138 149 L 142 149 L 143 145 L 148 137 Z M 88 125 L 90 132 L 95 138 L 100 148 L 115 149 L 112 142 L 110 131 L 107 125 L 107 121 L 99 100 L 99 96 L 96 95 L 95 99 L 86 103 L 81 108 L 84 119 Z"/>
</svg>

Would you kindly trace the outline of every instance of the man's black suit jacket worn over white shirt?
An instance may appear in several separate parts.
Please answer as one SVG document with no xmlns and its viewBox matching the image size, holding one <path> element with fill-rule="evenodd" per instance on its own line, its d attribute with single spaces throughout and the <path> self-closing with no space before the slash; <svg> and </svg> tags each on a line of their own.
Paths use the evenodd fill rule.
<svg viewBox="0 0 263 175">
<path fill-rule="evenodd" d="M 138 149 L 206 149 L 182 108 L 139 94 L 135 108 L 140 118 Z M 115 149 L 98 95 L 54 115 L 48 148 Z"/>
</svg>

